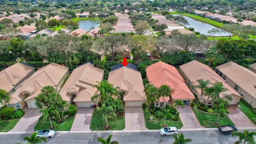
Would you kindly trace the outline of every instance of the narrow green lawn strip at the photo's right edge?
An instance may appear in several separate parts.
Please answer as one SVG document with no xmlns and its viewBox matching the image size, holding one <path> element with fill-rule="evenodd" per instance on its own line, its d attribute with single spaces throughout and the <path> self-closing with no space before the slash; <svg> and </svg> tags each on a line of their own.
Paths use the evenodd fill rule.
<svg viewBox="0 0 256 144">
<path fill-rule="evenodd" d="M 242 112 L 244 112 L 244 114 L 256 125 L 256 122 L 253 120 L 253 118 L 256 118 L 255 110 L 244 99 L 240 99 L 239 102 L 241 105 L 240 110 L 242 110 Z"/>
</svg>

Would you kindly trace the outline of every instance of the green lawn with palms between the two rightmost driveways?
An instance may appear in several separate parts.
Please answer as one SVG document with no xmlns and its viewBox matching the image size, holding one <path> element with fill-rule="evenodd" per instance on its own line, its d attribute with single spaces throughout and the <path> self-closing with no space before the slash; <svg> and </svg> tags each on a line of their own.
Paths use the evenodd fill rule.
<svg viewBox="0 0 256 144">
<path fill-rule="evenodd" d="M 207 114 L 204 112 L 200 112 L 199 110 L 196 109 L 196 103 L 194 108 L 192 108 L 194 111 L 194 114 L 196 115 L 196 118 L 198 119 L 199 123 L 201 126 L 205 128 L 217 128 L 218 126 L 214 124 L 218 118 L 218 114 Z M 209 126 L 209 121 L 212 122 L 212 126 Z M 224 116 L 219 118 L 218 120 L 219 125 L 227 125 L 227 124 L 233 124 L 234 123 L 228 118 L 228 116 Z"/>
</svg>

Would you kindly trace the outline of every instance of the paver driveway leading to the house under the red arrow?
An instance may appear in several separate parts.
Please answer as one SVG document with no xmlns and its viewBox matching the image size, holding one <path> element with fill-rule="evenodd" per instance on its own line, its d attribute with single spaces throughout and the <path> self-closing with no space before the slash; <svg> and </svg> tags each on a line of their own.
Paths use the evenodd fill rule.
<svg viewBox="0 0 256 144">
<path fill-rule="evenodd" d="M 148 128 L 146 128 L 142 107 L 125 108 L 124 130 L 148 130 Z"/>
</svg>

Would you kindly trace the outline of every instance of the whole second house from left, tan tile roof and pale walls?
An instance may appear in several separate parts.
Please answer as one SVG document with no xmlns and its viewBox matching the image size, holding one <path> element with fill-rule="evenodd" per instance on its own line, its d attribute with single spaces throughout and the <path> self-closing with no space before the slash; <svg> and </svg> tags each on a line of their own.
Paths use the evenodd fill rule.
<svg viewBox="0 0 256 144">
<path fill-rule="evenodd" d="M 35 97 L 40 94 L 40 90 L 44 86 L 53 86 L 58 92 L 68 74 L 68 67 L 56 63 L 39 68 L 12 94 L 10 102 L 6 105 L 14 107 L 14 110 L 23 109 L 26 104 L 28 104 L 28 108 L 37 108 Z"/>
</svg>

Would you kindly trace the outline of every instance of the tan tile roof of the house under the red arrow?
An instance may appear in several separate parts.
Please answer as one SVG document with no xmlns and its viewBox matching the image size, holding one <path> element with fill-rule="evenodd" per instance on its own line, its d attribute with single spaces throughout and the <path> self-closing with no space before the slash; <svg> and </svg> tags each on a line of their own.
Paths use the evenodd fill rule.
<svg viewBox="0 0 256 144">
<path fill-rule="evenodd" d="M 125 92 L 124 101 L 146 100 L 142 77 L 138 70 L 127 67 L 118 68 L 109 73 L 108 82 L 114 87 L 119 86 L 119 91 Z"/>
</svg>

